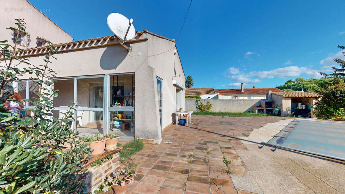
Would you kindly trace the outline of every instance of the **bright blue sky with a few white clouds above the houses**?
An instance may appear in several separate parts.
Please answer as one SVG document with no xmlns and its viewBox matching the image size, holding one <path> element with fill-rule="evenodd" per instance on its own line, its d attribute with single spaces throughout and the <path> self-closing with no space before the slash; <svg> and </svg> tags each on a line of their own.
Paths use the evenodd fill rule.
<svg viewBox="0 0 345 194">
<path fill-rule="evenodd" d="M 112 12 L 134 19 L 136 30 L 177 39 L 190 1 L 30 0 L 81 40 L 112 35 Z M 194 88 L 275 87 L 330 71 L 345 45 L 345 1 L 201 1 L 191 4 L 177 42 Z"/>
</svg>

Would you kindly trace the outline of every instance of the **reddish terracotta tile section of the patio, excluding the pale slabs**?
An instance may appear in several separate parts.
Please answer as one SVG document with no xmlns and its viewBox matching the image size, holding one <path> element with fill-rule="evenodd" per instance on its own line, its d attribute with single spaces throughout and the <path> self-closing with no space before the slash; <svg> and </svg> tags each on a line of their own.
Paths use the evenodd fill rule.
<svg viewBox="0 0 345 194">
<path fill-rule="evenodd" d="M 236 137 L 279 119 L 193 115 L 189 127 L 172 125 L 161 144 L 145 144 L 132 157 L 138 175 L 127 193 L 248 193 L 236 189 L 227 173 L 243 176 L 246 170 L 237 152 L 248 149 Z"/>
</svg>

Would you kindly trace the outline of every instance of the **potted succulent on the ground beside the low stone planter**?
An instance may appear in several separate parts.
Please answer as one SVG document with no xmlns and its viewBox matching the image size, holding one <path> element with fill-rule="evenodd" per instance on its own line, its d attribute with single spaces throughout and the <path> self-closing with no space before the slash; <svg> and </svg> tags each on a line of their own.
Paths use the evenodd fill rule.
<svg viewBox="0 0 345 194">
<path fill-rule="evenodd" d="M 112 172 L 109 177 L 106 178 L 106 181 L 102 183 L 98 190 L 94 193 L 103 193 L 111 190 L 114 190 L 116 194 L 126 193 L 128 184 L 132 184 L 134 177 L 137 176 L 137 163 L 126 162 L 122 164 L 120 168 Z"/>
</svg>

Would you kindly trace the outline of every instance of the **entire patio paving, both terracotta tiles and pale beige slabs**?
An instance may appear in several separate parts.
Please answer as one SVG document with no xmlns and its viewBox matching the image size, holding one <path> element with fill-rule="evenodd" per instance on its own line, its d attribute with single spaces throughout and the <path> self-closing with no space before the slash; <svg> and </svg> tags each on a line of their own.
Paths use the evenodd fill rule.
<svg viewBox="0 0 345 194">
<path fill-rule="evenodd" d="M 291 120 L 193 115 L 193 125 L 162 133 L 168 143 L 145 144 L 132 157 L 138 176 L 126 193 L 345 193 L 344 161 L 258 148 Z"/>
</svg>

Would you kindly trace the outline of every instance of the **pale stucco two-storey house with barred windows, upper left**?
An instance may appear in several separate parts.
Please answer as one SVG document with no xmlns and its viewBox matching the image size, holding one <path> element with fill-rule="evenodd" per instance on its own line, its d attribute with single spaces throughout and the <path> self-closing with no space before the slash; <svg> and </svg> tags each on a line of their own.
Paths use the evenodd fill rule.
<svg viewBox="0 0 345 194">
<path fill-rule="evenodd" d="M 19 42 L 17 48 L 44 46 L 48 44 L 48 41 L 60 43 L 73 40 L 71 35 L 62 30 L 27 0 L 2 0 L 0 1 L 0 8 L 0 40 L 8 40 L 11 45 L 14 45 L 17 30 L 6 28 L 16 27 L 14 19 L 20 18 L 26 22 L 26 32 L 29 35 L 19 34 L 18 37 L 22 41 Z M 49 9 L 42 9 L 42 11 L 49 11 Z"/>
</svg>

